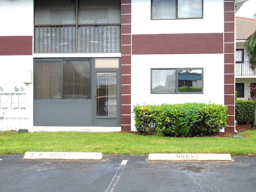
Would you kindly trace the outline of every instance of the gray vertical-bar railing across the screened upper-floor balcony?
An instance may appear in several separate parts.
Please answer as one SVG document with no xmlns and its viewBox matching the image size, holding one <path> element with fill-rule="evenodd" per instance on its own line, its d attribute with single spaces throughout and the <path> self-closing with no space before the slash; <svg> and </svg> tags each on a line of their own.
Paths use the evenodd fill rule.
<svg viewBox="0 0 256 192">
<path fill-rule="evenodd" d="M 120 25 L 35 26 L 35 53 L 118 53 Z"/>
</svg>

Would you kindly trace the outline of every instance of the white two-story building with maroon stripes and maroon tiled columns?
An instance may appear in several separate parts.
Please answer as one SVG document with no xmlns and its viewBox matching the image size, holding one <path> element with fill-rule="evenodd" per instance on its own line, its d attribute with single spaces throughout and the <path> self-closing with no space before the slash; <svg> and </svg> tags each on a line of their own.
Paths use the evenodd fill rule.
<svg viewBox="0 0 256 192">
<path fill-rule="evenodd" d="M 0 130 L 135 130 L 136 104 L 204 102 L 234 132 L 244 1 L 0 1 Z"/>
</svg>

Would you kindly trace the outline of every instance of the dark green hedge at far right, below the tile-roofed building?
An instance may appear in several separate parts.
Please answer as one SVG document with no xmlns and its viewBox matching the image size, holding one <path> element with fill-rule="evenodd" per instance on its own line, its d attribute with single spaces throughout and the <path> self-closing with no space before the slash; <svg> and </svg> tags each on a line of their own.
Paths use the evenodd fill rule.
<svg viewBox="0 0 256 192">
<path fill-rule="evenodd" d="M 236 121 L 238 124 L 255 124 L 256 102 L 249 100 L 236 100 Z"/>
</svg>

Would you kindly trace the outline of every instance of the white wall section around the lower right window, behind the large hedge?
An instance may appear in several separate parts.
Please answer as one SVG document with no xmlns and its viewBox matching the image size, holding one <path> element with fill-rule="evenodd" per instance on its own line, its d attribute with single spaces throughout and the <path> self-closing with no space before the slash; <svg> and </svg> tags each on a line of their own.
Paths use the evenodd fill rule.
<svg viewBox="0 0 256 192">
<path fill-rule="evenodd" d="M 224 104 L 223 54 L 132 55 L 132 110 L 136 104 Z M 203 94 L 150 94 L 151 68 L 203 68 Z M 217 93 L 217 94 L 216 94 Z M 134 120 L 132 119 L 132 130 Z"/>
</svg>

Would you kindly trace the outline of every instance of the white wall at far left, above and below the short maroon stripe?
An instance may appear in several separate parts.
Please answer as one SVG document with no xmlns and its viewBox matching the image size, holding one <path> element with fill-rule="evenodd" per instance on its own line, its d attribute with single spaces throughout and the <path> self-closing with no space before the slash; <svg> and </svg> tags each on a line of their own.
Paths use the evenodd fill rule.
<svg viewBox="0 0 256 192">
<path fill-rule="evenodd" d="M 33 36 L 33 6 L 33 0 L 0 0 L 0 36 Z M 22 82 L 23 70 L 33 70 L 32 55 L 0 56 L 0 131 L 33 125 L 33 84 Z"/>
</svg>

